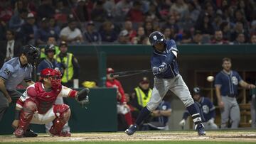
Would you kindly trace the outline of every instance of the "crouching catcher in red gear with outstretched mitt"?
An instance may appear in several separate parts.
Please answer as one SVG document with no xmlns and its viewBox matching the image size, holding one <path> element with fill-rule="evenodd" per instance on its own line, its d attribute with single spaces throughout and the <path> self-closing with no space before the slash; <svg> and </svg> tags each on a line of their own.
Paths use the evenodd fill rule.
<svg viewBox="0 0 256 144">
<path fill-rule="evenodd" d="M 39 82 L 32 84 L 16 103 L 14 120 L 14 135 L 23 137 L 29 123 L 46 124 L 53 121 L 50 135 L 70 136 L 63 132 L 63 126 L 70 118 L 70 108 L 67 104 L 54 104 L 58 96 L 75 98 L 80 104 L 87 104 L 89 89 L 80 92 L 61 85 L 61 74 L 58 70 L 46 68 L 41 71 Z"/>
</svg>

